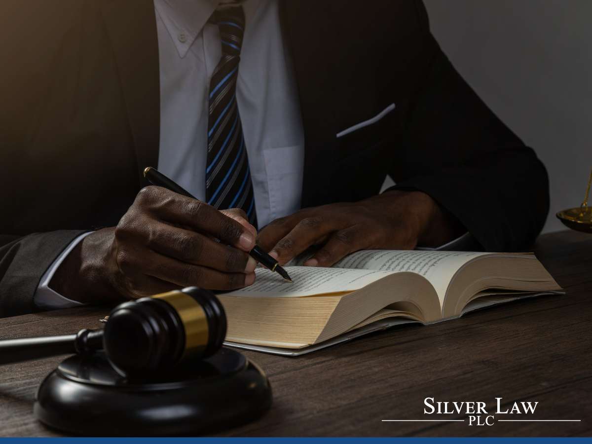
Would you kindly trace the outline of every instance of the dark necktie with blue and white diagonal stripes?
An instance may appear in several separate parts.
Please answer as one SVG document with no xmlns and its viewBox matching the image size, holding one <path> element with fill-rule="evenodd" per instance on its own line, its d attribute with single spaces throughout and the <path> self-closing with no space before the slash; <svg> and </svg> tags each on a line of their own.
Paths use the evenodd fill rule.
<svg viewBox="0 0 592 444">
<path fill-rule="evenodd" d="M 222 57 L 210 81 L 206 200 L 220 210 L 242 208 L 249 222 L 256 227 L 249 159 L 236 104 L 236 81 L 244 33 L 243 7 L 218 8 L 213 19 L 220 29 Z"/>
</svg>

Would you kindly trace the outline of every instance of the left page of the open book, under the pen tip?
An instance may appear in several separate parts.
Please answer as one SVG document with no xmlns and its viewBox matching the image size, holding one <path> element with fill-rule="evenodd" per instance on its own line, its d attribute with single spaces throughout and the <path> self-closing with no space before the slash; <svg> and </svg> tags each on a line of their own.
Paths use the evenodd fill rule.
<svg viewBox="0 0 592 444">
<path fill-rule="evenodd" d="M 266 268 L 255 270 L 255 282 L 226 296 L 298 297 L 355 291 L 392 274 L 389 271 L 287 266 L 293 282 Z"/>
</svg>

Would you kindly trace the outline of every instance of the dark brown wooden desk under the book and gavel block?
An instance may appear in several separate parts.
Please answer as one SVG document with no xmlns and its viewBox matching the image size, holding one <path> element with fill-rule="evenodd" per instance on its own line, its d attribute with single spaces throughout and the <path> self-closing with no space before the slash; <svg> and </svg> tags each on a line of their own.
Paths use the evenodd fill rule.
<svg viewBox="0 0 592 444">
<path fill-rule="evenodd" d="M 429 327 L 394 328 L 300 358 L 245 353 L 269 375 L 274 405 L 258 422 L 222 435 L 592 435 L 592 236 L 546 234 L 535 251 L 566 296 L 519 301 Z M 0 338 L 76 332 L 98 326 L 104 314 L 78 308 L 5 318 Z M 59 361 L 0 369 L 0 435 L 56 435 L 32 412 L 37 385 Z M 486 401 L 490 413 L 496 397 L 510 404 L 539 401 L 532 418 L 582 421 L 489 427 L 381 422 L 435 419 L 423 414 L 426 397 Z"/>
</svg>

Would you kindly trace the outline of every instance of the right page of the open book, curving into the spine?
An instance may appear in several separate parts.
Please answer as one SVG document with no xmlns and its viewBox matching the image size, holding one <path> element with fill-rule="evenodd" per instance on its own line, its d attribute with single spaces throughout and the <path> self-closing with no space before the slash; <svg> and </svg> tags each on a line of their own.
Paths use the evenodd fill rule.
<svg viewBox="0 0 592 444">
<path fill-rule="evenodd" d="M 491 253 L 420 251 L 420 250 L 362 250 L 346 256 L 336 268 L 380 271 L 408 271 L 424 276 L 436 289 L 442 307 L 446 288 L 461 266 L 473 258 Z"/>
</svg>

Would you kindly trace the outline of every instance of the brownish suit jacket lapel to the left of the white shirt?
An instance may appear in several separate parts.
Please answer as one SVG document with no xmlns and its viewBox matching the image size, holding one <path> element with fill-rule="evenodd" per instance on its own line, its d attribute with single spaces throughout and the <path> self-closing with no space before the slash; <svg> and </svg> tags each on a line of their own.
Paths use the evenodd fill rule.
<svg viewBox="0 0 592 444">
<path fill-rule="evenodd" d="M 102 0 L 136 149 L 140 183 L 146 166 L 156 166 L 160 139 L 158 37 L 150 0 Z"/>
</svg>

